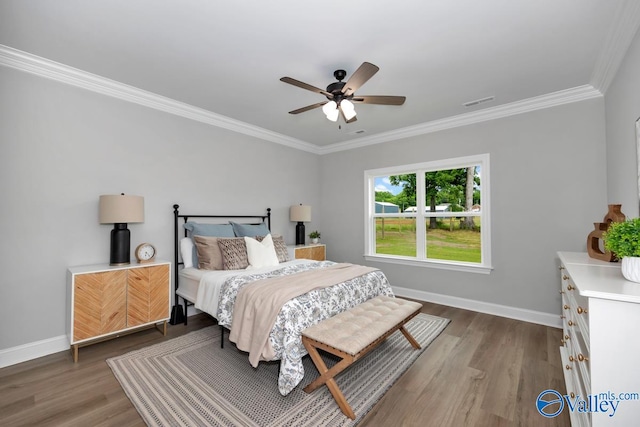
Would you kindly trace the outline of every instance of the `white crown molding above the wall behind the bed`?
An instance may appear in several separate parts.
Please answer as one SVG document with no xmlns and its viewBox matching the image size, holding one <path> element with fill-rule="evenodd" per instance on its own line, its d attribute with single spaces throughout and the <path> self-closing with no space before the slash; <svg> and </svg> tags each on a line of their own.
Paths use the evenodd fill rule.
<svg viewBox="0 0 640 427">
<path fill-rule="evenodd" d="M 87 89 L 102 95 L 132 102 L 176 116 L 206 123 L 233 132 L 275 142 L 298 150 L 318 154 L 318 147 L 258 126 L 212 113 L 202 108 L 157 95 L 96 74 L 88 73 L 59 62 L 51 61 L 9 46 L 0 45 L 0 65 L 55 80 L 60 83 Z"/>
</svg>

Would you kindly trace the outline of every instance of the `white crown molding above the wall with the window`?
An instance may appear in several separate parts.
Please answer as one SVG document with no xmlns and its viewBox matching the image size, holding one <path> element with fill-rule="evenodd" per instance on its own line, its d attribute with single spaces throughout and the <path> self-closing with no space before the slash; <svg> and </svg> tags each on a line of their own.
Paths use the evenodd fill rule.
<svg viewBox="0 0 640 427">
<path fill-rule="evenodd" d="M 524 99 L 509 104 L 498 105 L 471 113 L 460 114 L 458 116 L 447 117 L 434 120 L 415 126 L 396 129 L 390 132 L 379 133 L 370 137 L 358 138 L 355 141 L 331 144 L 320 148 L 320 154 L 335 153 L 338 151 L 352 150 L 354 148 L 366 147 L 369 145 L 381 144 L 383 142 L 397 141 L 412 136 L 424 135 L 427 133 L 439 132 L 460 126 L 467 126 L 474 123 L 486 122 L 488 120 L 500 119 L 516 114 L 528 113 L 530 111 L 569 104 L 572 102 L 584 101 L 587 99 L 602 97 L 602 93 L 591 85 L 578 86 L 572 89 L 561 90 L 534 98 Z"/>
</svg>

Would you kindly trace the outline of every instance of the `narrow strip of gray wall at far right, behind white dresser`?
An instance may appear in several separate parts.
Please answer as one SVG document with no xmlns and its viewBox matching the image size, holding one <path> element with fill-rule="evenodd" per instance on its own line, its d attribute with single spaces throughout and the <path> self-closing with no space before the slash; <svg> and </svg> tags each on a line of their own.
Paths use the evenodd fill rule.
<svg viewBox="0 0 640 427">
<path fill-rule="evenodd" d="M 640 117 L 640 33 L 607 90 L 607 195 L 627 217 L 638 216 L 635 122 Z"/>
</svg>

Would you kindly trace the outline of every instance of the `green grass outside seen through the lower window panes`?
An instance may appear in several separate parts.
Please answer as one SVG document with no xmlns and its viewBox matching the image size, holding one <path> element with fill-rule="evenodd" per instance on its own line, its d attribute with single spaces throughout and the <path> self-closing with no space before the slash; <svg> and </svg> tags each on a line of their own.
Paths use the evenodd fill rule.
<svg viewBox="0 0 640 427">
<path fill-rule="evenodd" d="M 475 218 L 476 222 L 479 218 Z M 460 230 L 459 221 L 442 219 L 437 229 L 427 228 L 427 258 L 463 262 L 481 262 L 480 232 Z M 425 225 L 426 226 L 426 225 Z M 479 228 L 478 228 L 479 229 Z M 416 256 L 415 220 L 385 218 L 376 220 L 376 253 Z"/>
</svg>

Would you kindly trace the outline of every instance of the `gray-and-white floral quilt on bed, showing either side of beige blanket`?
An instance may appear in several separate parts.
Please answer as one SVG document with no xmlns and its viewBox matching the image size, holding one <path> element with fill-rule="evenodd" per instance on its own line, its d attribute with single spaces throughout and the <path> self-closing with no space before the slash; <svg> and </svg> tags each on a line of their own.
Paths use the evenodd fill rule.
<svg viewBox="0 0 640 427">
<path fill-rule="evenodd" d="M 220 290 L 218 323 L 231 328 L 233 306 L 236 295 L 244 286 L 256 280 L 277 275 L 294 275 L 316 268 L 335 264 L 332 261 L 313 262 L 287 266 L 267 273 L 233 276 L 227 279 Z M 307 354 L 302 344 L 301 332 L 309 326 L 335 316 L 378 295 L 393 296 L 387 277 L 380 270 L 324 289 L 318 289 L 294 298 L 282 306 L 269 336 L 280 360 L 278 390 L 286 396 L 304 377 L 302 357 Z"/>
</svg>

